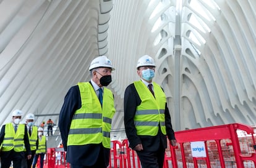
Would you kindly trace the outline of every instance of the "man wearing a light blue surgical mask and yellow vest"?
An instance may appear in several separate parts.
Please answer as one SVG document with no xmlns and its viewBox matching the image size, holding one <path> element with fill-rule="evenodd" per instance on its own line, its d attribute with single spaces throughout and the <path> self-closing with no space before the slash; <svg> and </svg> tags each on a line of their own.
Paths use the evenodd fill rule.
<svg viewBox="0 0 256 168">
<path fill-rule="evenodd" d="M 143 55 L 137 63 L 139 81 L 130 84 L 124 93 L 124 126 L 130 148 L 137 151 L 143 168 L 162 168 L 166 135 L 171 145 L 176 138 L 161 86 L 152 82 L 155 61 Z"/>
</svg>

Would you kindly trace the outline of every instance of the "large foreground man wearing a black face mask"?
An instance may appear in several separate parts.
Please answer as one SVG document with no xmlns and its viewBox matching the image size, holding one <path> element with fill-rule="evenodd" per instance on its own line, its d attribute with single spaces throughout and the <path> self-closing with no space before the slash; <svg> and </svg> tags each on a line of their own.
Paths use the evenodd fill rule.
<svg viewBox="0 0 256 168">
<path fill-rule="evenodd" d="M 64 150 L 72 168 L 106 168 L 109 164 L 114 96 L 106 86 L 114 70 L 106 56 L 90 64 L 91 80 L 69 89 L 59 114 Z"/>
</svg>

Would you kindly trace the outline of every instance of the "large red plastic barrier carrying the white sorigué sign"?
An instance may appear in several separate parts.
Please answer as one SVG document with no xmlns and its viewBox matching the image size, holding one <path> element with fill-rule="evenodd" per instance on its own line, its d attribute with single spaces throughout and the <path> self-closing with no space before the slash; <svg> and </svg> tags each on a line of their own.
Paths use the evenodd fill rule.
<svg viewBox="0 0 256 168">
<path fill-rule="evenodd" d="M 255 145 L 254 130 L 244 124 L 227 124 L 223 126 L 205 127 L 200 129 L 184 130 L 176 132 L 177 147 L 171 147 L 171 160 L 173 168 L 180 166 L 198 168 L 198 164 L 204 167 L 255 167 L 255 150 L 246 156 L 241 151 L 237 136 L 237 130 L 247 133 L 247 139 L 250 140 L 251 147 Z M 193 157 L 191 155 L 190 142 L 204 142 L 206 157 Z M 215 152 L 215 153 L 213 153 Z M 248 163 L 249 162 L 249 163 Z M 247 165 L 248 166 L 245 166 Z M 165 165 L 168 167 L 169 165 Z"/>
</svg>

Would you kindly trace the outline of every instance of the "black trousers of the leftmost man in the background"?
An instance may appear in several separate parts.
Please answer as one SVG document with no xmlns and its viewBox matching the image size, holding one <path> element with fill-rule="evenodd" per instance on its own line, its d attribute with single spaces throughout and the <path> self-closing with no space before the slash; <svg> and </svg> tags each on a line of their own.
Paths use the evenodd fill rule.
<svg viewBox="0 0 256 168">
<path fill-rule="evenodd" d="M 25 158 L 24 152 L 1 151 L 1 168 L 11 167 L 11 161 L 13 162 L 13 168 L 22 167 L 22 159 Z"/>
</svg>

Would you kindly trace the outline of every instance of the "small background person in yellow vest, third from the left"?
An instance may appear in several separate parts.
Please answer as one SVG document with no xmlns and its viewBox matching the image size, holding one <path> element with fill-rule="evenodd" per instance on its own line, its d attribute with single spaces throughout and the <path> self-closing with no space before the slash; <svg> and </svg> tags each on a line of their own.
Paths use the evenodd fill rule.
<svg viewBox="0 0 256 168">
<path fill-rule="evenodd" d="M 43 128 L 38 127 L 38 149 L 36 150 L 35 158 L 33 159 L 32 168 L 35 168 L 39 156 L 40 168 L 43 168 L 43 159 L 45 158 L 46 149 L 46 137 L 43 135 Z"/>
</svg>

